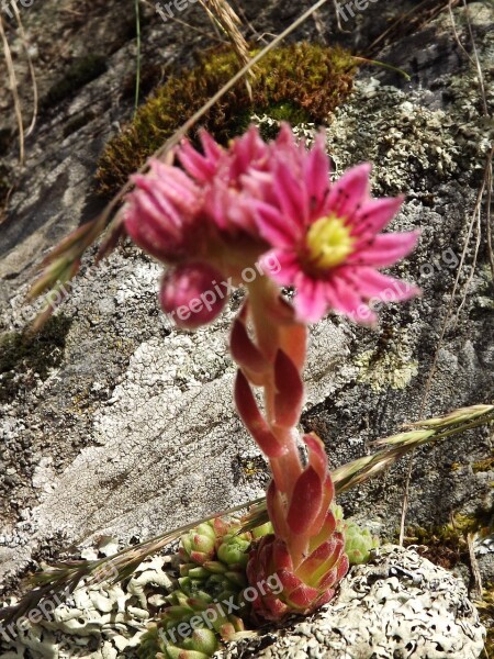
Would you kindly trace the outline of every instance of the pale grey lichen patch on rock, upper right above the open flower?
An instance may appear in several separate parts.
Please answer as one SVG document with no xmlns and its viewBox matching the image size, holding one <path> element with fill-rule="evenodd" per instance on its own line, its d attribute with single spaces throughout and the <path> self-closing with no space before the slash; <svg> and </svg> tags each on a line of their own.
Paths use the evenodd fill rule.
<svg viewBox="0 0 494 659">
<path fill-rule="evenodd" d="M 424 182 L 426 172 L 437 180 L 458 169 L 461 149 L 453 129 L 445 111 L 420 107 L 412 93 L 370 78 L 357 81 L 351 99 L 336 110 L 327 145 L 343 169 L 373 163 L 374 191 L 402 191 L 411 180 Z"/>
</svg>

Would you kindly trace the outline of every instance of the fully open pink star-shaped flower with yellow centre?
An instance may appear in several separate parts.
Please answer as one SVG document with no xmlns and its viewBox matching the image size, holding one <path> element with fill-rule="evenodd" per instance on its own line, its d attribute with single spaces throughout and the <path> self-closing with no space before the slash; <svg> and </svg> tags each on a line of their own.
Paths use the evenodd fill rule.
<svg viewBox="0 0 494 659">
<path fill-rule="evenodd" d="M 403 198 L 372 199 L 369 164 L 332 185 L 323 135 L 307 152 L 284 125 L 270 147 L 269 186 L 258 172 L 246 186 L 265 190 L 252 201 L 259 232 L 272 246 L 263 258 L 279 260 L 281 269 L 271 275 L 279 284 L 295 287 L 299 320 L 316 322 L 333 309 L 369 323 L 377 317 L 371 299 L 398 301 L 419 292 L 378 271 L 407 255 L 418 232 L 380 233 Z"/>
</svg>

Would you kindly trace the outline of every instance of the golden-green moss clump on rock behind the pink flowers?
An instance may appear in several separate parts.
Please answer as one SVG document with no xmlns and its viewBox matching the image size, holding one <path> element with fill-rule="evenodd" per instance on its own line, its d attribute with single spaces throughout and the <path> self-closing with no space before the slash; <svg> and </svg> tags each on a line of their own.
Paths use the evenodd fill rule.
<svg viewBox="0 0 494 659">
<path fill-rule="evenodd" d="M 210 110 L 202 125 L 226 144 L 245 131 L 252 113 L 271 111 L 274 119 L 292 123 L 324 123 L 350 93 L 356 68 L 351 55 L 341 48 L 301 43 L 276 49 L 256 67 L 252 99 L 244 81 L 238 82 Z M 124 185 L 237 70 L 235 53 L 221 47 L 205 53 L 192 70 L 171 76 L 106 145 L 97 172 L 99 191 L 109 194 Z"/>
</svg>

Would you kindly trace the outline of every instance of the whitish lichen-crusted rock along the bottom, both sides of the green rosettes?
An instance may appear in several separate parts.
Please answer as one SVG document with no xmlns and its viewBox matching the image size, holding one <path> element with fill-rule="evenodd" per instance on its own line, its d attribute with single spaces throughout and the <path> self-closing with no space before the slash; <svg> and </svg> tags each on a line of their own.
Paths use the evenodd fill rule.
<svg viewBox="0 0 494 659">
<path fill-rule="evenodd" d="M 79 588 L 67 602 L 40 606 L 50 619 L 0 633 L 3 659 L 135 657 L 146 624 L 176 583 L 169 556 L 139 566 L 125 584 Z M 50 603 L 52 604 L 52 603 Z M 54 610 L 55 608 L 55 610 Z M 412 549 L 386 546 L 369 565 L 352 568 L 337 596 L 279 633 L 261 629 L 227 644 L 216 659 L 475 659 L 485 629 L 461 579 Z"/>
</svg>

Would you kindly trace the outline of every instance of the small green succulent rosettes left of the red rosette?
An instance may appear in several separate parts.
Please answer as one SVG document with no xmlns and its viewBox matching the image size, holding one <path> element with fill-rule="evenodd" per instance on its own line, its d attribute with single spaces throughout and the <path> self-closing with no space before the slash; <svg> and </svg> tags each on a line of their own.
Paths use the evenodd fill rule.
<svg viewBox="0 0 494 659">
<path fill-rule="evenodd" d="M 203 659 L 244 630 L 243 592 L 251 534 L 238 534 L 238 520 L 204 522 L 181 538 L 178 588 L 144 635 L 139 657 Z"/>
</svg>

